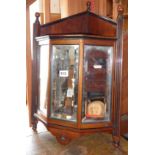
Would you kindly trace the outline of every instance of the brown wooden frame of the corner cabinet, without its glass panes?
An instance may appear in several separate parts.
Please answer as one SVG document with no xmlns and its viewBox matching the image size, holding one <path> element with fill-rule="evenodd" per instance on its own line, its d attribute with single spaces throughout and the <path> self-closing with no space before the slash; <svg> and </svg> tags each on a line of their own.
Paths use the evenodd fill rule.
<svg viewBox="0 0 155 155">
<path fill-rule="evenodd" d="M 61 144 L 68 144 L 72 139 L 94 132 L 109 132 L 113 135 L 113 143 L 116 147 L 120 141 L 120 106 L 122 92 L 122 25 L 123 9 L 118 8 L 117 22 L 97 16 L 89 11 L 83 12 L 56 22 L 40 25 L 39 14 L 36 14 L 34 24 L 34 49 L 33 49 L 33 89 L 32 89 L 32 122 L 36 128 L 37 120 L 43 122 L 47 129 L 56 136 Z M 94 24 L 95 23 L 95 24 Z M 37 37 L 37 38 L 36 38 Z M 80 47 L 79 51 L 79 74 L 78 74 L 78 112 L 77 122 L 68 122 L 50 118 L 50 80 L 51 80 L 51 57 L 49 56 L 48 70 L 48 108 L 47 115 L 38 110 L 38 64 L 39 48 L 49 45 L 50 55 L 52 45 L 75 45 Z M 113 47 L 112 65 L 112 116 L 107 122 L 82 123 L 82 81 L 84 45 L 103 45 Z"/>
</svg>

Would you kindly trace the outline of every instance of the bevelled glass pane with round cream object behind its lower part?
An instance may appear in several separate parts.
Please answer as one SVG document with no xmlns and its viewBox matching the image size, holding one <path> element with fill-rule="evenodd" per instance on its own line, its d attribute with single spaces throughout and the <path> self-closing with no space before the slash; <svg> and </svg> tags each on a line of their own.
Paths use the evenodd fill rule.
<svg viewBox="0 0 155 155">
<path fill-rule="evenodd" d="M 111 120 L 112 46 L 84 46 L 82 123 Z"/>
</svg>

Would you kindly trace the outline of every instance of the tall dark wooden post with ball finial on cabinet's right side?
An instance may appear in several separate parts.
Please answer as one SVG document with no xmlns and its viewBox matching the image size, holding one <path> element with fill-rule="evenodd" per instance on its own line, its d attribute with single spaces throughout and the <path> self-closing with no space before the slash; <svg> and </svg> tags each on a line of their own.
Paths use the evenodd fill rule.
<svg viewBox="0 0 155 155">
<path fill-rule="evenodd" d="M 116 147 L 120 142 L 120 107 L 122 102 L 122 58 L 123 58 L 123 8 L 118 6 L 118 18 L 117 18 L 117 50 L 116 50 L 116 62 L 115 62 L 115 117 L 113 128 L 113 142 Z"/>
</svg>

